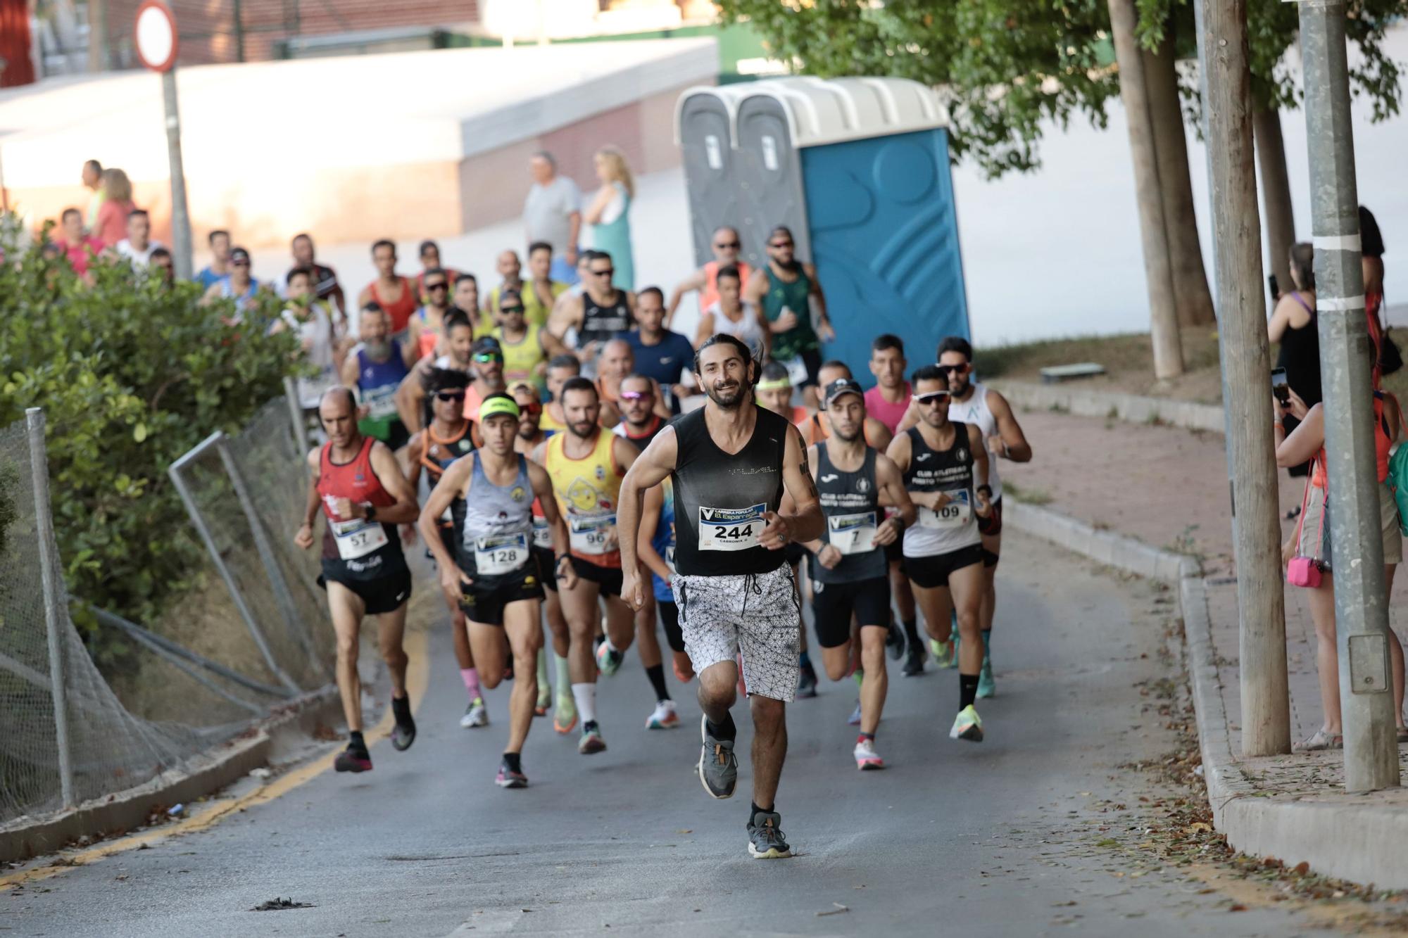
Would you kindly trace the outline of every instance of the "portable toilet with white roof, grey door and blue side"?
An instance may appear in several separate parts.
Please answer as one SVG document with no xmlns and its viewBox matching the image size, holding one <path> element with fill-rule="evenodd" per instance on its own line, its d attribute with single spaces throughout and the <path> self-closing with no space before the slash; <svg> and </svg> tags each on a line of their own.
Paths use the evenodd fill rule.
<svg viewBox="0 0 1408 938">
<path fill-rule="evenodd" d="M 836 328 L 825 358 L 869 383 L 870 339 L 881 332 L 904 339 L 911 368 L 932 362 L 943 337 L 970 335 L 945 113 L 931 89 L 787 77 L 684 99 L 718 92 L 734 113 L 732 200 L 748 261 L 766 263 L 767 232 L 791 228 Z M 686 149 L 697 132 L 679 125 Z M 686 182 L 691 214 L 714 211 L 701 201 L 717 204 L 722 180 L 710 194 L 686 162 Z"/>
</svg>

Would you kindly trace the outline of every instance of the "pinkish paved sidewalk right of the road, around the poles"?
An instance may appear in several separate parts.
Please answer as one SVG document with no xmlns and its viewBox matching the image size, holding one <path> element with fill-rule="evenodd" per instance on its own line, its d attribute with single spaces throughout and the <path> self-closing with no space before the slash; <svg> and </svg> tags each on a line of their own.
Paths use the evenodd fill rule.
<svg viewBox="0 0 1408 938">
<path fill-rule="evenodd" d="M 1200 666 L 1201 654 L 1205 676 L 1211 676 L 1198 701 L 1200 728 L 1214 810 L 1233 845 L 1293 863 L 1309 859 L 1324 872 L 1359 882 L 1408 887 L 1402 839 L 1391 844 L 1383 834 L 1394 831 L 1398 838 L 1408 831 L 1408 789 L 1345 794 L 1340 752 L 1240 758 L 1236 576 L 1222 435 L 1049 410 L 1019 408 L 1018 418 L 1036 459 L 1028 465 L 1004 462 L 1004 484 L 1015 482 L 1024 499 L 1048 511 L 1201 562 L 1204 577 L 1184 584 L 1184 620 L 1190 668 Z M 1280 479 L 1284 517 L 1300 506 L 1304 483 L 1284 473 Z M 1293 527 L 1294 521 L 1283 520 L 1283 537 Z M 1190 592 L 1188 583 L 1195 589 Z M 1200 608 L 1187 608 L 1190 601 Z M 1408 634 L 1405 603 L 1408 582 L 1398 577 L 1390 623 L 1400 637 Z M 1319 728 L 1322 715 L 1315 628 L 1305 590 L 1286 590 L 1286 618 L 1291 735 L 1300 741 Z M 1408 779 L 1408 761 L 1404 777 Z M 1295 813 L 1276 814 L 1281 804 L 1293 806 Z M 1326 807 L 1333 810 L 1324 811 Z M 1232 823 L 1229 810 L 1239 823 Z M 1350 828 L 1363 828 L 1370 839 L 1384 841 L 1384 851 L 1364 845 Z M 1376 838 L 1374 831 L 1381 834 Z M 1343 844 L 1339 851 L 1343 855 L 1326 851 L 1329 841 Z M 1366 856 L 1377 859 L 1366 862 Z M 1381 862 L 1384 856 L 1394 858 L 1387 862 L 1388 869 Z"/>
</svg>

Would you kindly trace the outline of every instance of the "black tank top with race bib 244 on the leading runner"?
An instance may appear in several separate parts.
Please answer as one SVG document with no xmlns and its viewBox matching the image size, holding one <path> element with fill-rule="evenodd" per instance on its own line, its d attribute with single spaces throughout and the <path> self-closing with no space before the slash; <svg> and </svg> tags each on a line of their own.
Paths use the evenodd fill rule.
<svg viewBox="0 0 1408 938">
<path fill-rule="evenodd" d="M 714 444 L 704 407 L 672 424 L 679 456 L 674 484 L 674 569 L 683 576 L 770 573 L 786 562 L 783 551 L 758 544 L 783 500 L 783 454 L 791 424 L 756 404 L 753 435 L 734 455 Z"/>
</svg>

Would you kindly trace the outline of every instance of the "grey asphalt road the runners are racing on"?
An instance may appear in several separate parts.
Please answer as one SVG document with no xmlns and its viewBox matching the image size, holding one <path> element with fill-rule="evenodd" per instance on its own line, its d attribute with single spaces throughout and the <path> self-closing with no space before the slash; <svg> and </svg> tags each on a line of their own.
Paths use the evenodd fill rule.
<svg viewBox="0 0 1408 938">
<path fill-rule="evenodd" d="M 1233 900 L 1171 869 L 1129 877 L 1097 845 L 1102 799 L 1136 803 L 1156 782 L 1121 765 L 1173 742 L 1139 682 L 1166 676 L 1153 586 L 1118 580 L 1038 542 L 1004 552 L 998 697 L 983 744 L 948 739 L 956 672 L 893 669 L 877 745 L 884 772 L 850 759 L 853 684 L 788 707 L 779 794 L 798 856 L 745 849 L 739 797 L 714 801 L 693 775 L 697 707 L 684 728 L 646 732 L 649 684 L 634 655 L 603 682 L 610 749 L 534 724 L 532 787 L 491 780 L 500 720 L 458 727 L 463 687 L 449 635 L 432 635 L 420 738 L 382 742 L 376 770 L 322 773 L 207 831 L 11 887 L 6 935 L 888 934 L 1290 935 L 1312 925 L 1270 903 Z M 672 687 L 674 686 L 670 677 Z M 736 715 L 743 717 L 739 708 Z M 739 720 L 739 751 L 750 731 Z M 251 911 L 275 897 L 308 907 Z M 1324 934 L 1316 931 L 1316 934 Z"/>
</svg>

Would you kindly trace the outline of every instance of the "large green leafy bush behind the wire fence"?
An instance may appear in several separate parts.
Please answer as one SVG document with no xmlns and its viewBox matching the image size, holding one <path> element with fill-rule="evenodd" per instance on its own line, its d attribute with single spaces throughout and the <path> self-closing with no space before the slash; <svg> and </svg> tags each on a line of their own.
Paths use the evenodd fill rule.
<svg viewBox="0 0 1408 938">
<path fill-rule="evenodd" d="M 201 563 L 168 466 L 282 394 L 297 339 L 230 325 L 231 301 L 199 306 L 197 284 L 127 262 L 94 263 L 89 286 L 66 261 L 17 249 L 13 231 L 0 252 L 0 427 L 45 411 L 69 593 L 151 621 Z M 266 297 L 252 318 L 277 308 Z M 96 635 L 82 608 L 75 621 Z"/>
</svg>

